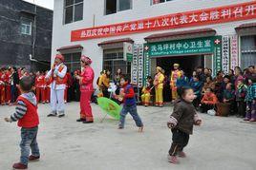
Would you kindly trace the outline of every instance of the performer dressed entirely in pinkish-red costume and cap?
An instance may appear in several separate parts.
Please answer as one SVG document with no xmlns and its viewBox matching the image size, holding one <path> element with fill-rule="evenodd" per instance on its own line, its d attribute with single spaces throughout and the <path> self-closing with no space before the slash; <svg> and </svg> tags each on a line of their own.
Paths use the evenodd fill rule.
<svg viewBox="0 0 256 170">
<path fill-rule="evenodd" d="M 92 94 L 94 92 L 94 79 L 95 72 L 91 67 L 92 60 L 82 55 L 80 59 L 82 72 L 79 75 L 76 75 L 76 79 L 79 81 L 80 85 L 80 119 L 76 122 L 82 123 L 94 123 L 94 117 L 92 113 L 92 107 L 90 104 Z"/>
</svg>

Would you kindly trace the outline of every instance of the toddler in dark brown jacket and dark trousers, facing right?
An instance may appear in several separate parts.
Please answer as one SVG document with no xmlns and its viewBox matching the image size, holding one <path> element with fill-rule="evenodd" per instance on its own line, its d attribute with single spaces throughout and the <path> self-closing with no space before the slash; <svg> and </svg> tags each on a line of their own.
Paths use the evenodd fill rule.
<svg viewBox="0 0 256 170">
<path fill-rule="evenodd" d="M 189 135 L 193 133 L 193 124 L 201 125 L 202 123 L 192 104 L 195 99 L 193 89 L 191 87 L 180 87 L 178 95 L 180 98 L 176 100 L 173 113 L 167 123 L 173 133 L 168 161 L 174 164 L 179 163 L 177 156 L 186 157 L 183 148 L 189 141 Z"/>
</svg>

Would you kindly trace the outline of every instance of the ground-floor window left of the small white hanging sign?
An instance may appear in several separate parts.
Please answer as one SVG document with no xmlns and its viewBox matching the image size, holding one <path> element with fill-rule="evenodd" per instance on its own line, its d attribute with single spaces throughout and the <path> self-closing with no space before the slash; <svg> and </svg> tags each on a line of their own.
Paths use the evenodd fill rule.
<svg viewBox="0 0 256 170">
<path fill-rule="evenodd" d="M 103 69 L 110 70 L 110 79 L 114 80 L 117 69 L 122 70 L 125 76 L 131 76 L 131 63 L 123 61 L 123 50 L 104 50 L 103 54 Z"/>
</svg>

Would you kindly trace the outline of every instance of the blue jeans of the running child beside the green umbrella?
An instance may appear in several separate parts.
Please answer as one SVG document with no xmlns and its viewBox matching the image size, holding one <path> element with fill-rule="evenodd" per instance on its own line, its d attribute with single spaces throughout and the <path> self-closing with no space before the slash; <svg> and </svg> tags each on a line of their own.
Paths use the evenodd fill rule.
<svg viewBox="0 0 256 170">
<path fill-rule="evenodd" d="M 124 127 L 125 117 L 128 113 L 131 114 L 131 116 L 133 117 L 133 119 L 138 127 L 143 126 L 143 123 L 141 122 L 141 119 L 137 112 L 137 105 L 134 104 L 134 105 L 123 105 L 121 113 L 120 113 L 119 127 L 121 127 L 121 128 Z"/>
</svg>

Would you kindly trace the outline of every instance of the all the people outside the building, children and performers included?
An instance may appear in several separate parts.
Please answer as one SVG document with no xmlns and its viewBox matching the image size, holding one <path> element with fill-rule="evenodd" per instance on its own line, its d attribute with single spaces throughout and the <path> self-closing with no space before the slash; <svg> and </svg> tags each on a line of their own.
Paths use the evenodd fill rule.
<svg viewBox="0 0 256 170">
<path fill-rule="evenodd" d="M 18 122 L 21 127 L 21 157 L 14 163 L 14 169 L 27 169 L 29 161 L 39 161 L 40 152 L 36 136 L 39 117 L 37 104 L 51 103 L 51 113 L 48 117 L 62 118 L 65 116 L 65 102 L 76 92 L 80 101 L 79 119 L 77 123 L 94 123 L 91 99 L 95 92 L 95 72 L 91 67 L 92 60 L 82 55 L 80 58 L 81 71 L 69 73 L 64 65 L 64 56 L 57 54 L 54 64 L 49 71 L 30 73 L 25 68 L 2 68 L 0 71 L 1 104 L 15 104 L 15 112 L 5 118 L 6 122 Z M 157 66 L 154 79 L 147 77 L 146 85 L 141 90 L 142 95 L 136 94 L 134 85 L 127 76 L 117 69 L 114 85 L 110 84 L 111 72 L 103 70 L 96 80 L 97 97 L 106 97 L 122 103 L 118 129 L 123 129 L 125 117 L 128 113 L 133 117 L 139 132 L 144 124 L 137 111 L 137 99 L 148 106 L 154 103 L 162 107 L 163 93 L 166 85 L 171 88 L 171 99 L 174 104 L 173 112 L 167 126 L 173 133 L 172 145 L 168 154 L 168 161 L 179 163 L 177 156 L 186 157 L 184 147 L 189 142 L 189 135 L 193 132 L 193 125 L 201 125 L 202 119 L 196 112 L 214 110 L 218 104 L 228 105 L 229 113 L 237 113 L 245 121 L 255 122 L 256 107 L 256 67 L 248 66 L 244 71 L 239 66 L 224 75 L 218 71 L 212 77 L 209 68 L 197 67 L 191 78 L 186 77 L 179 64 L 174 65 L 170 78 L 164 75 L 164 70 Z M 77 84 L 77 87 L 75 87 Z M 165 89 L 164 89 L 165 88 Z M 140 91 L 139 90 L 139 91 Z M 71 93 L 70 93 L 71 92 Z M 35 94 L 35 95 L 34 95 Z M 139 93 L 140 94 L 140 93 Z M 222 114 L 222 113 L 221 113 Z M 30 155 L 32 151 L 32 155 Z"/>
</svg>

